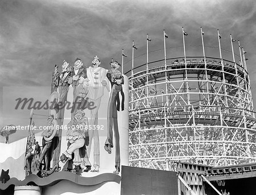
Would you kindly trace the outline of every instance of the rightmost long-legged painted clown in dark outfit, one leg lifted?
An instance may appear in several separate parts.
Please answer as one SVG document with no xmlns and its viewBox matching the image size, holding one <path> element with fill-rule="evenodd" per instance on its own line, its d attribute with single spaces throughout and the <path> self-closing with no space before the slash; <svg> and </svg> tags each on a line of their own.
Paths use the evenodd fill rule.
<svg viewBox="0 0 256 195">
<path fill-rule="evenodd" d="M 109 97 L 108 104 L 108 137 L 105 142 L 105 150 L 111 153 L 111 148 L 113 148 L 113 126 L 114 126 L 114 136 L 115 136 L 115 174 L 120 172 L 120 145 L 119 145 L 119 131 L 118 131 L 118 121 L 117 121 L 117 110 L 119 111 L 119 92 L 122 94 L 122 110 L 124 96 L 122 91 L 122 85 L 124 84 L 124 78 L 122 73 L 118 70 L 121 64 L 118 61 L 110 62 L 111 69 L 108 70 L 106 76 L 108 77 L 112 89 Z"/>
</svg>

